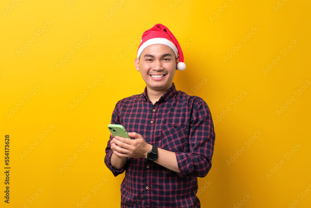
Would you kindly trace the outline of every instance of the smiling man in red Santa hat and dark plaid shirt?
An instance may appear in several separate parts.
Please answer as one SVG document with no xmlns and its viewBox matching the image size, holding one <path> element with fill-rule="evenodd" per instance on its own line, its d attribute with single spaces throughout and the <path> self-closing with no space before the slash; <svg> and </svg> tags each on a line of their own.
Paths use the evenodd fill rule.
<svg viewBox="0 0 311 208">
<path fill-rule="evenodd" d="M 200 207 L 197 177 L 211 168 L 215 132 L 204 100 L 175 89 L 175 71 L 185 67 L 167 27 L 143 33 L 135 68 L 146 88 L 118 101 L 111 119 L 133 139 L 111 134 L 106 148 L 114 176 L 125 171 L 121 207 Z"/>
</svg>

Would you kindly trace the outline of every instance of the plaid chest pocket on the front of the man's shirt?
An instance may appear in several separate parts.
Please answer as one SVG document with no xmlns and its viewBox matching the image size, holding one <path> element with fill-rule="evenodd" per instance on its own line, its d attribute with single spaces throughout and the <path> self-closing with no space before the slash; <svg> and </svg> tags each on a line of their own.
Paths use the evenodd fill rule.
<svg viewBox="0 0 311 208">
<path fill-rule="evenodd" d="M 164 123 L 162 125 L 161 149 L 171 152 L 183 151 L 186 142 L 185 124 Z"/>
</svg>

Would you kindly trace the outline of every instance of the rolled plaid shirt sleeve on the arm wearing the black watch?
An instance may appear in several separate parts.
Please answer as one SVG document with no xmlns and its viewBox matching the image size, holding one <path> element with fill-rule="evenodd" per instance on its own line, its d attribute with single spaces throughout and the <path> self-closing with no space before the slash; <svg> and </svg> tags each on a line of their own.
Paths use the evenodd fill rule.
<svg viewBox="0 0 311 208">
<path fill-rule="evenodd" d="M 178 176 L 193 173 L 196 177 L 205 177 L 211 169 L 215 131 L 210 109 L 202 99 L 193 106 L 188 143 L 189 152 L 175 152 L 181 172 Z"/>
</svg>

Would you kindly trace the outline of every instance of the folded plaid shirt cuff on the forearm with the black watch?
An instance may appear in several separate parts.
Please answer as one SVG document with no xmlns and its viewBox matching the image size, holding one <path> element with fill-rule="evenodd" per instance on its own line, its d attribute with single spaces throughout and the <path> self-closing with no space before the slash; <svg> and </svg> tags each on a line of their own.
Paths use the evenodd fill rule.
<svg viewBox="0 0 311 208">
<path fill-rule="evenodd" d="M 175 152 L 175 154 L 180 171 L 180 173 L 177 174 L 178 176 L 183 177 L 194 171 L 192 158 L 189 153 Z"/>
</svg>

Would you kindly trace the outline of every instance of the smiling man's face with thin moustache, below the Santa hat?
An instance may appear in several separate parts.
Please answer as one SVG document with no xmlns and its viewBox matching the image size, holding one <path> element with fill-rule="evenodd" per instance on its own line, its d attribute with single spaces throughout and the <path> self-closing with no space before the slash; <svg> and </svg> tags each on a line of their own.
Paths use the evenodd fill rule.
<svg viewBox="0 0 311 208">
<path fill-rule="evenodd" d="M 155 44 L 146 47 L 140 58 L 135 59 L 135 68 L 140 71 L 147 89 L 166 91 L 173 85 L 177 63 L 170 47 Z"/>
</svg>

